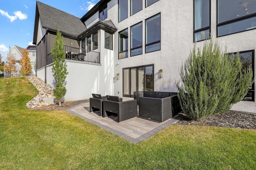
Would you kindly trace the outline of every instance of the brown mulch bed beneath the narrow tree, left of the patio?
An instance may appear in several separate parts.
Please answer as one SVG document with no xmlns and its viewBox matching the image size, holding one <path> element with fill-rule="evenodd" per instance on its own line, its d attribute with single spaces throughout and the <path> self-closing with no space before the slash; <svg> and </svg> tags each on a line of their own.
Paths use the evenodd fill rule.
<svg viewBox="0 0 256 170">
<path fill-rule="evenodd" d="M 34 107 L 34 108 L 30 108 L 30 109 L 32 109 L 32 110 L 44 110 L 44 111 L 66 110 L 66 109 L 74 107 L 78 104 L 87 103 L 87 102 L 89 102 L 89 100 L 78 100 L 78 101 L 74 101 L 74 102 L 64 102 L 64 103 L 61 104 L 61 106 L 59 106 L 58 104 L 51 104 L 49 106 Z"/>
</svg>

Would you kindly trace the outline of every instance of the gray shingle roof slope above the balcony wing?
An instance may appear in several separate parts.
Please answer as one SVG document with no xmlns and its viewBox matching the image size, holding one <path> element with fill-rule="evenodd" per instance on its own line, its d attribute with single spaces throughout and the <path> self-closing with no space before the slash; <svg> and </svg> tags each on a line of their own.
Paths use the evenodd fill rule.
<svg viewBox="0 0 256 170">
<path fill-rule="evenodd" d="M 39 1 L 36 1 L 36 4 L 42 27 L 52 30 L 57 30 L 57 27 L 59 27 L 60 32 L 76 37 L 86 30 L 86 26 L 80 21 L 80 18 Z"/>
</svg>

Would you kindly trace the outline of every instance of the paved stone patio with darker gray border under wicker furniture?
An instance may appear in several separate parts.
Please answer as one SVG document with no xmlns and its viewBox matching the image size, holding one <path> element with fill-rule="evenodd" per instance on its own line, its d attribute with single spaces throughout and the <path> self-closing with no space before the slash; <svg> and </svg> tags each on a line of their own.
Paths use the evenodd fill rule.
<svg viewBox="0 0 256 170">
<path fill-rule="evenodd" d="M 125 100 L 130 100 L 130 98 L 123 98 L 123 101 Z M 101 117 L 99 111 L 90 113 L 89 102 L 72 107 L 67 111 L 132 143 L 140 143 L 165 127 L 174 124 L 181 117 L 178 115 L 162 123 L 134 117 L 118 123 L 116 116 Z"/>
</svg>

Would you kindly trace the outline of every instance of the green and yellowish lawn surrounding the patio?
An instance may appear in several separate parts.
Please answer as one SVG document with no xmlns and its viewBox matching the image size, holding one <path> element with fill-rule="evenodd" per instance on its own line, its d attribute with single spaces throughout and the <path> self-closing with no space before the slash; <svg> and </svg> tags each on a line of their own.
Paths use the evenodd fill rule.
<svg viewBox="0 0 256 170">
<path fill-rule="evenodd" d="M 67 111 L 25 104 L 26 78 L 0 79 L 0 169 L 255 169 L 256 131 L 171 125 L 139 144 Z"/>
</svg>

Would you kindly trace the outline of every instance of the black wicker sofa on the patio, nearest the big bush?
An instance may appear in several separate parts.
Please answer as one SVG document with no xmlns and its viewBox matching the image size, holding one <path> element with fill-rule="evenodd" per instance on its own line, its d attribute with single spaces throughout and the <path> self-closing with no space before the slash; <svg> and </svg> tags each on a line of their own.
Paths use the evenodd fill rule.
<svg viewBox="0 0 256 170">
<path fill-rule="evenodd" d="M 139 105 L 139 116 L 143 119 L 163 122 L 180 113 L 178 93 L 174 92 L 134 92 L 134 99 Z"/>
</svg>

